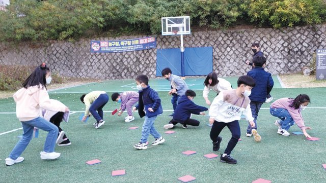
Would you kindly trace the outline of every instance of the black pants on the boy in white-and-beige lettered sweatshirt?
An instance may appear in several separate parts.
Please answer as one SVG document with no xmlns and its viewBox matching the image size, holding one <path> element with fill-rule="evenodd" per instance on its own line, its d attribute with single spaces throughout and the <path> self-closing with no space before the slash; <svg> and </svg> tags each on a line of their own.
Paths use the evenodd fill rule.
<svg viewBox="0 0 326 183">
<path fill-rule="evenodd" d="M 239 121 L 235 120 L 230 123 L 224 123 L 224 122 L 218 122 L 214 121 L 213 126 L 210 130 L 210 139 L 212 139 L 213 142 L 218 141 L 218 136 L 223 130 L 223 128 L 227 126 L 229 130 L 231 131 L 232 137 L 228 143 L 227 148 L 225 149 L 224 153 L 227 155 L 230 155 L 232 150 L 234 149 L 235 145 L 238 143 L 238 140 L 240 138 L 240 125 Z"/>
</svg>

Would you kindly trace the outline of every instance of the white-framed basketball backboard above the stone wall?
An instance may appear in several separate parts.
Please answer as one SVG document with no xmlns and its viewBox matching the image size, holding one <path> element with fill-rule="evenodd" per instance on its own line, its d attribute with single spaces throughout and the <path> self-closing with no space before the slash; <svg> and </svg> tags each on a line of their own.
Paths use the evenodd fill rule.
<svg viewBox="0 0 326 183">
<path fill-rule="evenodd" d="M 190 17 L 162 17 L 162 35 L 190 34 Z"/>
</svg>

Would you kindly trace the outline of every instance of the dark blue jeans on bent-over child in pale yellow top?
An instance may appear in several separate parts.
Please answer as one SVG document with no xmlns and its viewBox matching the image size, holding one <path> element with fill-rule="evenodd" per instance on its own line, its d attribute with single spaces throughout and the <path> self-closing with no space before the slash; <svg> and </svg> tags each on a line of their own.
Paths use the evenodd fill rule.
<svg viewBox="0 0 326 183">
<path fill-rule="evenodd" d="M 103 120 L 103 107 L 108 101 L 108 95 L 106 93 L 100 94 L 98 98 L 91 104 L 90 113 L 96 119 L 97 122 Z"/>
</svg>

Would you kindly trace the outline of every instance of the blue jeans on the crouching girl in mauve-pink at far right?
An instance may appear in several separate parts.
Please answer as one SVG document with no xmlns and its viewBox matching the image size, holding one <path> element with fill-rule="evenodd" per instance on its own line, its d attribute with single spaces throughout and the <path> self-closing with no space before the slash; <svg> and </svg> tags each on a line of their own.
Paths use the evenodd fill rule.
<svg viewBox="0 0 326 183">
<path fill-rule="evenodd" d="M 294 120 L 290 113 L 285 108 L 269 108 L 269 113 L 275 117 L 281 119 L 281 128 L 284 130 L 289 130 L 292 125 L 294 125 Z"/>
</svg>

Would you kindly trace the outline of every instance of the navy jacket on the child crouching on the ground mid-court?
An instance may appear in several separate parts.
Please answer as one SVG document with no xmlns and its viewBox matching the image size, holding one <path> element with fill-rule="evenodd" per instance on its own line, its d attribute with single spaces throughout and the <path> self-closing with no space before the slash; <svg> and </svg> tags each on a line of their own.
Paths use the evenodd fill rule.
<svg viewBox="0 0 326 183">
<path fill-rule="evenodd" d="M 182 95 L 173 114 L 173 119 L 179 123 L 183 123 L 190 118 L 191 114 L 199 115 L 200 112 L 207 110 L 207 107 L 196 105 L 186 95 Z"/>
</svg>

